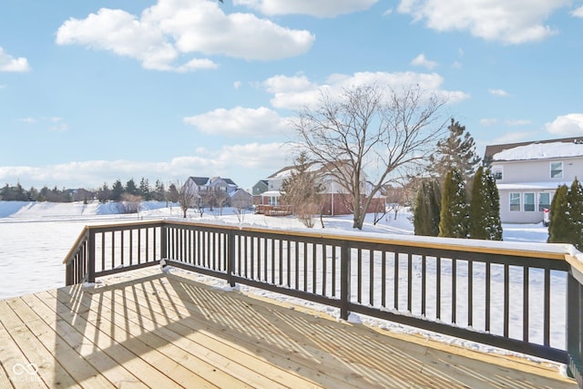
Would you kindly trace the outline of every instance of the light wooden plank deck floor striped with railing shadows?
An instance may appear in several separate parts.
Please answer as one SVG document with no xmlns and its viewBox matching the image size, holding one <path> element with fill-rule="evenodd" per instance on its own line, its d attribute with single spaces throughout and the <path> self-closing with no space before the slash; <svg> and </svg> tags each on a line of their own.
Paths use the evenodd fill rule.
<svg viewBox="0 0 583 389">
<path fill-rule="evenodd" d="M 575 388 L 476 353 L 158 268 L 0 301 L 0 388 Z"/>
</svg>

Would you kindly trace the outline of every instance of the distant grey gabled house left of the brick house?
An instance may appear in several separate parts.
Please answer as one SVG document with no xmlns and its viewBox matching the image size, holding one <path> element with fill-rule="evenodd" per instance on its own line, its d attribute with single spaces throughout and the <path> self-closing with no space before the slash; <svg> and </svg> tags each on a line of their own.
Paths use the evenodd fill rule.
<svg viewBox="0 0 583 389">
<path fill-rule="evenodd" d="M 234 195 L 236 195 L 237 200 L 247 198 L 247 201 L 252 204 L 251 194 L 240 189 L 232 179 L 189 177 L 184 183 L 184 188 L 193 193 L 199 200 L 199 204 L 204 206 L 230 206 Z M 241 190 L 247 193 L 249 197 L 241 193 Z"/>
</svg>

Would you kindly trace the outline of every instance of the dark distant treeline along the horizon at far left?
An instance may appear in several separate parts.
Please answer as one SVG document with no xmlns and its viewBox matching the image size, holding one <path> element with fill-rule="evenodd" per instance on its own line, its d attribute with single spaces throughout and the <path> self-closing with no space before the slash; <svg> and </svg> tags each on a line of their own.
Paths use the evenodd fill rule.
<svg viewBox="0 0 583 389">
<path fill-rule="evenodd" d="M 128 198 L 176 202 L 179 199 L 179 190 L 175 184 L 170 184 L 169 189 L 166 189 L 159 179 L 156 180 L 154 186 L 151 186 L 148 179 L 144 178 L 139 181 L 138 185 L 134 179 L 129 179 L 126 185 L 118 179 L 111 188 L 106 182 L 98 189 L 58 189 L 56 186 L 53 189 L 48 189 L 46 186 L 42 189 L 35 187 L 24 189 L 20 182 L 15 186 L 6 183 L 0 189 L 0 200 L 4 201 L 88 202 L 99 200 L 99 202 L 107 202 L 123 201 L 128 200 Z"/>
</svg>

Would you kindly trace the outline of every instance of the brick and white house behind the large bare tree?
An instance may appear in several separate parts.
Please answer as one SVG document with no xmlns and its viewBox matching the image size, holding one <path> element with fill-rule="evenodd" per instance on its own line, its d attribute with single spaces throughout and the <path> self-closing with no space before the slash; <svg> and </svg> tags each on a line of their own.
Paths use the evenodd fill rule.
<svg viewBox="0 0 583 389">
<path fill-rule="evenodd" d="M 319 163 L 312 163 L 307 171 L 316 174 L 322 183 L 322 214 L 323 215 L 348 215 L 352 214 L 352 204 L 351 196 L 346 189 L 339 183 L 338 179 L 333 177 L 332 169 L 337 169 L 329 164 L 327 166 L 322 166 Z M 273 173 L 270 177 L 265 179 L 267 181 L 267 190 L 261 192 L 259 201 L 260 205 L 269 206 L 281 206 L 285 205 L 281 202 L 281 185 L 285 179 L 288 179 L 295 167 L 289 166 L 278 170 Z M 362 190 L 366 193 L 370 185 L 366 182 L 366 176 L 363 174 L 362 178 Z M 371 211 L 375 209 L 384 209 L 384 199 L 379 197 L 375 198 L 371 204 Z M 256 202 L 257 204 L 257 202 Z"/>
</svg>

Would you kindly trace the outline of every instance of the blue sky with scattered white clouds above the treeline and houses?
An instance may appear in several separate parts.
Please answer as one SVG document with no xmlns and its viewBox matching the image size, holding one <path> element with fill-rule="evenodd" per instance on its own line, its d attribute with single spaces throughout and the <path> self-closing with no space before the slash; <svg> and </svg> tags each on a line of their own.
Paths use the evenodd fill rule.
<svg viewBox="0 0 583 389">
<path fill-rule="evenodd" d="M 448 97 L 480 153 L 583 136 L 583 1 L 3 0 L 0 183 L 251 188 L 315 92 L 364 80 Z"/>
</svg>

